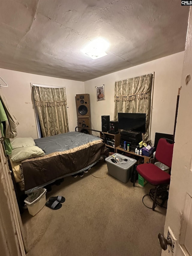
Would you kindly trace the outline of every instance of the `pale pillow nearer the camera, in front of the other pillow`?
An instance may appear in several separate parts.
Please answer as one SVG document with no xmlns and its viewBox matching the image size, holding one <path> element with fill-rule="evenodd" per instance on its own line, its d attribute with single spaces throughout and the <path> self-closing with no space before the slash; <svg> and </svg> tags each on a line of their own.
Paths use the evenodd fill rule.
<svg viewBox="0 0 192 256">
<path fill-rule="evenodd" d="M 10 159 L 13 162 L 20 162 L 25 159 L 34 158 L 42 155 L 45 155 L 42 149 L 37 146 L 29 146 L 13 149 L 10 155 Z"/>
</svg>

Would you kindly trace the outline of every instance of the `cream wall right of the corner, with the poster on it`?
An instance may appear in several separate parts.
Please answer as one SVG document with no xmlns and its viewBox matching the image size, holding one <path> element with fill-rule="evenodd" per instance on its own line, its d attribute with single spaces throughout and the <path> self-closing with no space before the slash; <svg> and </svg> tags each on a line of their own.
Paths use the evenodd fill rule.
<svg viewBox="0 0 192 256">
<path fill-rule="evenodd" d="M 132 68 L 98 77 L 85 84 L 85 93 L 90 94 L 91 123 L 101 130 L 101 115 L 114 115 L 115 81 L 136 77 L 155 71 L 152 108 L 151 140 L 155 132 L 173 134 L 178 88 L 181 85 L 184 52 L 176 53 Z M 105 85 L 105 101 L 96 101 L 95 86 Z"/>
</svg>

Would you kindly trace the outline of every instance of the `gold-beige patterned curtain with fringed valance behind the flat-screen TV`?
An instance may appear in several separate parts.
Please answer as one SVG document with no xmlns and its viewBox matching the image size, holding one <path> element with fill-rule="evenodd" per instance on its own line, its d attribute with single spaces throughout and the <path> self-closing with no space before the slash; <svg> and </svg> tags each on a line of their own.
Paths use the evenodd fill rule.
<svg viewBox="0 0 192 256">
<path fill-rule="evenodd" d="M 118 120 L 118 113 L 146 113 L 144 141 L 149 139 L 152 77 L 152 74 L 147 74 L 115 83 L 114 120 Z"/>
</svg>

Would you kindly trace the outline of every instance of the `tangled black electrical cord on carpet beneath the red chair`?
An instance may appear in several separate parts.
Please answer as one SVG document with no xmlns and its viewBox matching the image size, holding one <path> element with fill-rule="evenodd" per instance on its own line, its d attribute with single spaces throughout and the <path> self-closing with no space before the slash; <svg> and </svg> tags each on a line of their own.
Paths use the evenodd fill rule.
<svg viewBox="0 0 192 256">
<path fill-rule="evenodd" d="M 157 197 L 156 197 L 156 202 L 155 202 L 155 207 L 157 205 L 160 205 L 161 207 L 167 209 L 166 206 L 163 206 L 162 203 L 165 203 L 165 201 L 168 199 L 168 188 L 167 186 L 162 186 L 161 188 L 159 188 L 159 190 L 157 191 Z M 149 191 L 149 194 L 146 194 L 143 196 L 143 199 L 144 197 L 146 196 L 150 196 L 150 198 L 152 199 L 152 201 L 154 200 L 154 196 L 155 196 L 155 188 L 151 188 L 150 191 Z M 143 202 L 143 199 L 142 199 L 142 202 Z M 162 202 L 158 202 L 158 200 L 162 200 Z M 146 206 L 146 204 L 143 202 L 143 204 Z M 149 206 L 146 206 L 147 208 L 149 209 L 152 209 L 152 207 L 149 207 Z"/>
</svg>

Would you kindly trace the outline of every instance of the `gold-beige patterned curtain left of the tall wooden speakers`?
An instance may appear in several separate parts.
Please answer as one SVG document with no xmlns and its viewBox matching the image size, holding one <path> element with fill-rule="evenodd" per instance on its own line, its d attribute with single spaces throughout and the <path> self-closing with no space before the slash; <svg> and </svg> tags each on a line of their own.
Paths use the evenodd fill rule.
<svg viewBox="0 0 192 256">
<path fill-rule="evenodd" d="M 43 137 L 69 131 L 65 88 L 32 86 Z"/>
</svg>

